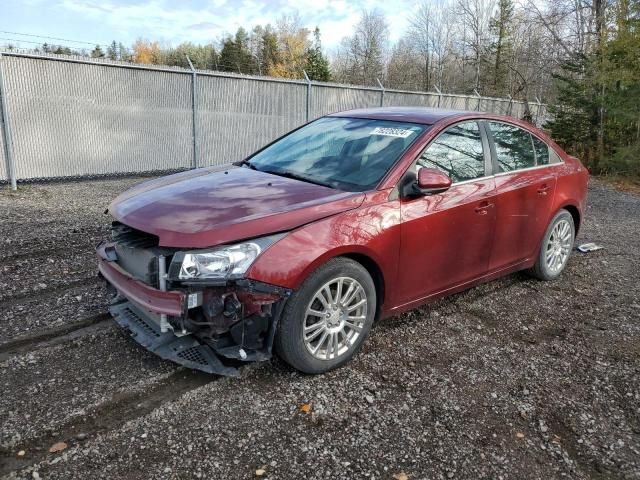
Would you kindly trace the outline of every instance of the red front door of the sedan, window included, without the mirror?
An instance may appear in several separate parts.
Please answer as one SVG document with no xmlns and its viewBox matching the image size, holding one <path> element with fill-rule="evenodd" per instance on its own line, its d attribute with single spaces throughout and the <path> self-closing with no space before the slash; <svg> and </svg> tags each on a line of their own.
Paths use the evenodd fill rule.
<svg viewBox="0 0 640 480">
<path fill-rule="evenodd" d="M 496 209 L 495 181 L 484 127 L 467 121 L 442 132 L 416 169 L 437 168 L 449 190 L 401 200 L 399 303 L 419 303 L 485 275 Z"/>
</svg>

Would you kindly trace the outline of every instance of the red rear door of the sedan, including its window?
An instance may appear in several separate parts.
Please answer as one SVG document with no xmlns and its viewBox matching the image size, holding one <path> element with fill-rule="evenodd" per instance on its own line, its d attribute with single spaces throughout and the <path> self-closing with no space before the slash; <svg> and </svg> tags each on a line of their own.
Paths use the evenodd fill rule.
<svg viewBox="0 0 640 480">
<path fill-rule="evenodd" d="M 548 147 L 528 131 L 503 122 L 485 125 L 497 192 L 489 262 L 495 271 L 537 255 L 551 213 L 556 169 L 549 164 Z"/>
</svg>

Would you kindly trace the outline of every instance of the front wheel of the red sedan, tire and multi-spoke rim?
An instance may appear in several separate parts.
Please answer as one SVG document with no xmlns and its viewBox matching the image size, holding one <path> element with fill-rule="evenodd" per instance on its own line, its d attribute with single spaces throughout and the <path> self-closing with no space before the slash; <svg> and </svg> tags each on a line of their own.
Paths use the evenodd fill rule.
<svg viewBox="0 0 640 480">
<path fill-rule="evenodd" d="M 335 302 L 338 288 L 342 302 Z M 276 352 L 304 373 L 338 368 L 362 347 L 376 306 L 376 288 L 367 270 L 348 258 L 332 259 L 309 275 L 287 301 L 275 339 Z"/>
</svg>

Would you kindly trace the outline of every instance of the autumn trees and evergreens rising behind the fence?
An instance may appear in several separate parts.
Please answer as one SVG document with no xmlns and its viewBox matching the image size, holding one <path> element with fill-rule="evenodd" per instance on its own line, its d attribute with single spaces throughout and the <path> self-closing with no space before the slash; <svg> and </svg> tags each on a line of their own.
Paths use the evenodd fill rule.
<svg viewBox="0 0 640 480">
<path fill-rule="evenodd" d="M 365 86 L 540 99 L 545 125 L 595 173 L 640 176 L 640 0 L 425 0 L 390 40 L 365 10 L 327 55 L 297 15 L 239 28 L 217 43 L 96 46 L 92 57 Z M 68 48 L 47 46 L 55 53 Z M 79 52 L 82 54 L 83 52 Z M 525 109 L 525 117 L 530 115 Z"/>
</svg>

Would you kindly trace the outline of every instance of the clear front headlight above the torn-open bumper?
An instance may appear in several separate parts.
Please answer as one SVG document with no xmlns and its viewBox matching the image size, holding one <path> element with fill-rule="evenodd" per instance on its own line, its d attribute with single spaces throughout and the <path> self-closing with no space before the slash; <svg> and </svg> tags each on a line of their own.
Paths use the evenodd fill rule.
<svg viewBox="0 0 640 480">
<path fill-rule="evenodd" d="M 284 234 L 270 235 L 213 250 L 178 252 L 171 262 L 169 276 L 177 280 L 226 280 L 241 277 L 264 250 L 283 236 Z"/>
</svg>

